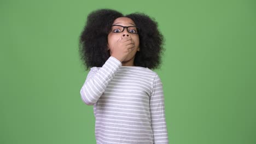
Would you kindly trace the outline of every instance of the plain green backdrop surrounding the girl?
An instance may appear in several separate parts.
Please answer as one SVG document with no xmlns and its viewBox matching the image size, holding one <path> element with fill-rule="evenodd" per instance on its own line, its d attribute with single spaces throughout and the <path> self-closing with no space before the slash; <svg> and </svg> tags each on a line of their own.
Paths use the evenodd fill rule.
<svg viewBox="0 0 256 144">
<path fill-rule="evenodd" d="M 256 2 L 1 0 L 0 143 L 96 143 L 78 55 L 99 8 L 155 17 L 170 143 L 256 143 Z"/>
</svg>

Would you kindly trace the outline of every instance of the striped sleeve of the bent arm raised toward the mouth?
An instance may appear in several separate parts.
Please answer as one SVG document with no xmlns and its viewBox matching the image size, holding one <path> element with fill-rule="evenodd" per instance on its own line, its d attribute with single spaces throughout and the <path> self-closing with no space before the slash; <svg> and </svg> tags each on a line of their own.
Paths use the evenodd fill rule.
<svg viewBox="0 0 256 144">
<path fill-rule="evenodd" d="M 99 70 L 96 67 L 91 68 L 80 90 L 82 100 L 87 105 L 94 105 L 120 67 L 121 62 L 110 56 Z"/>
</svg>

